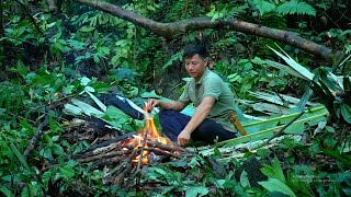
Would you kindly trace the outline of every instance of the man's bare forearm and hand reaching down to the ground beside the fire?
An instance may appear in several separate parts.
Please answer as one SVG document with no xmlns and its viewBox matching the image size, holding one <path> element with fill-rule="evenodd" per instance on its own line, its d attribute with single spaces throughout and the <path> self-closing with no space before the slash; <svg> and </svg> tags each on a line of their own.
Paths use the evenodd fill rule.
<svg viewBox="0 0 351 197">
<path fill-rule="evenodd" d="M 178 136 L 178 144 L 184 146 L 189 142 L 191 134 L 195 128 L 206 119 L 213 104 L 216 102 L 216 99 L 206 96 L 202 100 L 200 105 L 196 107 L 196 111 L 193 117 L 190 119 L 185 128 Z"/>
</svg>

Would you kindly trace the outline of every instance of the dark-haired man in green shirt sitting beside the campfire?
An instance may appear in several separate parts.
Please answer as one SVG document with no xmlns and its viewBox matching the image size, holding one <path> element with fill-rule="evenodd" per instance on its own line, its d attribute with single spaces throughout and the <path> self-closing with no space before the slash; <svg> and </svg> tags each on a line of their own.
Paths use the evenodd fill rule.
<svg viewBox="0 0 351 197">
<path fill-rule="evenodd" d="M 220 77 L 208 68 L 207 53 L 199 43 L 184 48 L 185 69 L 192 78 L 178 101 L 150 99 L 148 108 L 162 108 L 159 113 L 165 135 L 180 146 L 190 139 L 214 143 L 236 138 L 236 128 L 228 119 L 234 112 L 234 95 Z M 190 103 L 196 107 L 192 117 L 180 112 Z"/>
</svg>

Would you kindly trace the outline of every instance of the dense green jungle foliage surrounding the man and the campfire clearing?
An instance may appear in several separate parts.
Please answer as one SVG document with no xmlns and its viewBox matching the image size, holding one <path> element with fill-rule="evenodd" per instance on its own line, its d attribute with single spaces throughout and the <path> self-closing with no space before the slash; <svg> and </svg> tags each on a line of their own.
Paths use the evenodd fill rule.
<svg viewBox="0 0 351 197">
<path fill-rule="evenodd" d="M 105 1 L 163 23 L 238 19 L 295 32 L 339 55 L 325 60 L 225 28 L 165 38 L 76 0 L 0 0 L 0 196 L 351 195 L 351 1 Z M 299 125 L 301 140 L 244 149 L 240 158 L 214 148 L 207 155 L 150 166 L 141 176 L 149 187 L 141 189 L 105 185 L 103 170 L 66 160 L 91 141 L 63 138 L 72 119 L 63 113 L 64 104 L 90 94 L 118 94 L 141 104 L 140 95 L 154 90 L 177 100 L 186 77 L 182 48 L 195 39 L 210 49 L 215 72 L 235 92 L 244 114 L 279 117 L 313 102 L 325 105 L 328 118 Z M 298 101 L 290 106 L 284 96 Z M 287 109 L 273 111 L 270 99 Z M 125 131 L 140 128 L 123 120 L 117 126 Z M 29 152 L 37 130 L 43 134 Z M 52 162 L 57 164 L 47 167 Z"/>
</svg>

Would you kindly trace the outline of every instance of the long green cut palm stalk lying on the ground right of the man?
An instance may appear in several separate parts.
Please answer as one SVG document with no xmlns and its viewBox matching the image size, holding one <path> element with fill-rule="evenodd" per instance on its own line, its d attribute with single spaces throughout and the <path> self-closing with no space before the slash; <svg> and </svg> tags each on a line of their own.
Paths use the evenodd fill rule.
<svg viewBox="0 0 351 197">
<path fill-rule="evenodd" d="M 306 113 L 304 115 L 304 118 L 302 118 L 302 119 L 299 119 L 297 121 L 294 121 L 290 127 L 302 126 L 307 121 L 314 121 L 314 120 L 320 121 L 321 120 L 320 118 L 325 119 L 325 116 L 329 115 L 328 111 L 326 111 L 325 107 L 318 107 L 318 108 L 315 108 L 314 112 L 312 112 L 312 111 L 306 111 Z M 316 112 L 319 112 L 319 113 L 317 115 L 310 116 L 310 113 L 316 113 Z M 287 117 L 291 119 L 292 117 L 297 116 L 298 114 L 299 113 L 296 113 L 294 115 L 288 115 Z M 308 116 L 308 114 L 309 114 L 309 116 Z M 281 120 L 286 120 L 286 116 L 274 118 L 273 120 L 272 119 L 268 119 L 265 121 L 274 121 L 274 120 L 280 120 L 280 121 Z M 262 124 L 262 123 L 258 121 L 258 123 L 244 125 L 244 127 L 248 128 L 248 127 L 252 127 L 252 126 L 258 126 L 260 124 Z M 230 139 L 230 140 L 220 141 L 220 142 L 215 143 L 214 147 L 220 147 L 220 146 L 234 147 L 234 146 L 237 146 L 239 143 L 245 143 L 245 142 L 249 142 L 249 141 L 257 141 L 257 140 L 271 138 L 272 136 L 274 136 L 274 131 L 280 130 L 285 125 L 281 125 L 281 126 L 276 126 L 276 127 L 269 128 L 269 129 L 265 129 L 265 130 L 260 130 L 260 131 L 250 134 L 248 136 L 242 136 L 242 137 L 234 138 L 234 139 Z M 304 131 L 304 127 L 299 127 L 299 129 L 298 128 L 297 129 L 293 129 L 293 131 L 286 129 L 284 134 L 302 134 L 303 131 Z"/>
</svg>

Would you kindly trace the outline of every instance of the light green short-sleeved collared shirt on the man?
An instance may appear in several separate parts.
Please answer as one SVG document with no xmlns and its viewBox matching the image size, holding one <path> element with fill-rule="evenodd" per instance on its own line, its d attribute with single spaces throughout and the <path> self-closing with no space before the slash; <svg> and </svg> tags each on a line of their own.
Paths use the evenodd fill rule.
<svg viewBox="0 0 351 197">
<path fill-rule="evenodd" d="M 234 95 L 222 78 L 208 68 L 205 69 L 197 82 L 192 78 L 185 84 L 185 90 L 178 101 L 185 105 L 193 103 L 197 107 L 206 96 L 216 100 L 207 118 L 220 124 L 225 129 L 236 132 L 236 128 L 228 118 L 229 113 L 235 109 Z"/>
</svg>

